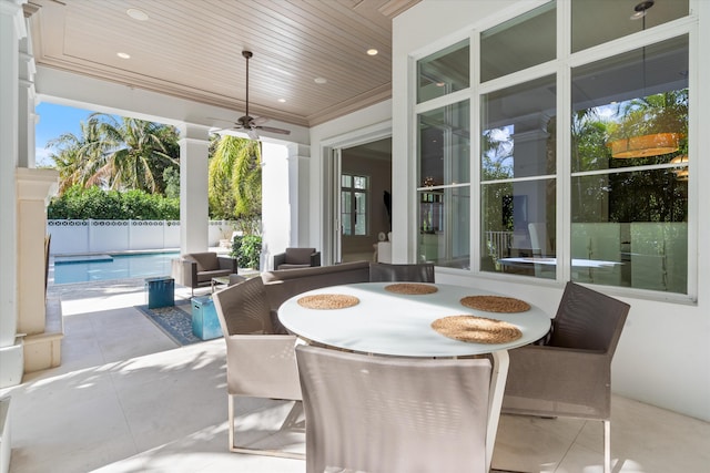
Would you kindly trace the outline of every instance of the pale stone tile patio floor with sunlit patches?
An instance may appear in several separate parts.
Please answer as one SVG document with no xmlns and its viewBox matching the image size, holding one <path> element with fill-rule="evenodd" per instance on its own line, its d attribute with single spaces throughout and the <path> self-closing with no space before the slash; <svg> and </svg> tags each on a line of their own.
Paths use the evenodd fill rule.
<svg viewBox="0 0 710 473">
<path fill-rule="evenodd" d="M 133 308 L 145 304 L 142 280 L 61 291 L 62 364 L 0 391 L 12 397 L 10 472 L 305 472 L 300 460 L 229 453 L 222 339 L 178 347 Z M 246 440 L 304 451 L 302 433 L 270 433 L 290 407 L 245 399 Z M 710 423 L 620 397 L 612 411 L 615 473 L 710 472 Z M 601 472 L 601 432 L 600 422 L 504 415 L 494 467 Z"/>
</svg>

